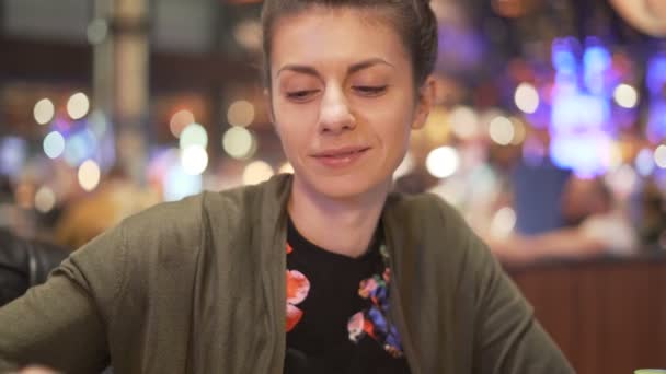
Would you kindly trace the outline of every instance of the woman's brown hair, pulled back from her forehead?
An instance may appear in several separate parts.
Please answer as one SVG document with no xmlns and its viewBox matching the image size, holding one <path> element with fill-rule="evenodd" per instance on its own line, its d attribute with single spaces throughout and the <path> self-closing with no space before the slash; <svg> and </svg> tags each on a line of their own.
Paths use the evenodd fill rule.
<svg viewBox="0 0 666 374">
<path fill-rule="evenodd" d="M 437 58 L 437 20 L 429 0 L 264 0 L 262 31 L 264 79 L 271 87 L 271 47 L 274 26 L 282 17 L 296 15 L 310 7 L 357 8 L 384 11 L 411 56 L 415 86 L 433 72 Z"/>
</svg>

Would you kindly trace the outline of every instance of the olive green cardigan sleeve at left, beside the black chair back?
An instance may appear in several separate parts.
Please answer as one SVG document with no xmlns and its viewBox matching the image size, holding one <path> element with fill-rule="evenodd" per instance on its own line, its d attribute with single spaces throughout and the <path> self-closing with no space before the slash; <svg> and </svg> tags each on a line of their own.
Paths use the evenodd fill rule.
<svg viewBox="0 0 666 374">
<path fill-rule="evenodd" d="M 94 373 L 108 364 L 106 329 L 123 283 L 124 247 L 122 229 L 113 229 L 0 308 L 0 372 L 41 364 Z"/>
</svg>

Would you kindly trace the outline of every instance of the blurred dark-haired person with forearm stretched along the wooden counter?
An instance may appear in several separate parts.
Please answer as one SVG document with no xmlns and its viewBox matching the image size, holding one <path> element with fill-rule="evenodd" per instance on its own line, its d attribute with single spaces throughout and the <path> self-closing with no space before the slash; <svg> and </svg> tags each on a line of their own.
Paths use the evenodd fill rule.
<svg viewBox="0 0 666 374">
<path fill-rule="evenodd" d="M 536 235 L 489 237 L 491 249 L 510 265 L 602 254 L 628 256 L 638 250 L 636 231 L 602 178 L 572 175 L 561 207 L 564 227 Z"/>
</svg>

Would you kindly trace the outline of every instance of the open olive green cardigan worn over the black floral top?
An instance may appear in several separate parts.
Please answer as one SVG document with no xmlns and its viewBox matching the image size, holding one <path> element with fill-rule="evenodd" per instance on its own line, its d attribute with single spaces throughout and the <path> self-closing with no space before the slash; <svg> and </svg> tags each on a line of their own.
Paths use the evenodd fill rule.
<svg viewBox="0 0 666 374">
<path fill-rule="evenodd" d="M 0 308 L 0 372 L 282 373 L 290 186 L 163 203 L 96 237 Z M 452 208 L 391 195 L 382 223 L 412 373 L 573 372 Z"/>
</svg>

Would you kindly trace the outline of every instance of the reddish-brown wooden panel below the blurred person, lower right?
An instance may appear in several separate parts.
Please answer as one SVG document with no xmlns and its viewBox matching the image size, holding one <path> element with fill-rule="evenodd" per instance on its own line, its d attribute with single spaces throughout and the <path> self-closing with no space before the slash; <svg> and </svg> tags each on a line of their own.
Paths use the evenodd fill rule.
<svg viewBox="0 0 666 374">
<path fill-rule="evenodd" d="M 576 372 L 666 369 L 666 259 L 596 259 L 508 269 Z"/>
</svg>

